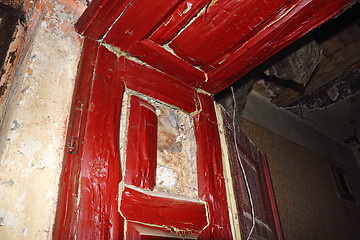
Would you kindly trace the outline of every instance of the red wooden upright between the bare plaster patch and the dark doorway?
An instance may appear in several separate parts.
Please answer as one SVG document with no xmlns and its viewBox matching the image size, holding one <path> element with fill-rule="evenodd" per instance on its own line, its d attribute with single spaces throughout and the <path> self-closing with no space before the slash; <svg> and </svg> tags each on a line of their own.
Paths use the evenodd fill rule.
<svg viewBox="0 0 360 240">
<path fill-rule="evenodd" d="M 194 127 L 198 191 L 199 198 L 208 203 L 210 221 L 200 239 L 232 239 L 214 101 L 199 93 L 197 104 L 200 110 L 194 117 Z"/>
</svg>

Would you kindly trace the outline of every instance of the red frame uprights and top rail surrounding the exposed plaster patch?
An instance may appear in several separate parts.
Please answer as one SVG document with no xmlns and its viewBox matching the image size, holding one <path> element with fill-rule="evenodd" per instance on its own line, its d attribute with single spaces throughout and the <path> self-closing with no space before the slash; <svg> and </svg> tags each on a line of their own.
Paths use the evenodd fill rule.
<svg viewBox="0 0 360 240">
<path fill-rule="evenodd" d="M 125 85 L 187 112 L 198 109 L 194 116 L 198 192 L 199 199 L 207 203 L 209 218 L 199 238 L 232 238 L 214 102 L 206 94 L 171 81 L 153 68 L 118 57 L 99 42 L 85 39 L 69 120 L 54 239 L 124 237 L 124 218 L 118 206 L 122 180 L 118 146 Z M 177 90 L 171 97 L 164 90 L 167 85 L 167 89 L 171 85 Z"/>
</svg>

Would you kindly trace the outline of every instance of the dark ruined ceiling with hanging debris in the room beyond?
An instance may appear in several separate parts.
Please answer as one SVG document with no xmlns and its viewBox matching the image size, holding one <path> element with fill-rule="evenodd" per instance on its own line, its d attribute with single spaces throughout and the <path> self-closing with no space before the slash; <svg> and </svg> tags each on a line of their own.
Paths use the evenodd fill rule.
<svg viewBox="0 0 360 240">
<path fill-rule="evenodd" d="M 357 3 L 240 79 L 233 85 L 237 111 L 253 89 L 338 142 L 359 145 L 359 13 Z M 229 89 L 215 98 L 232 110 Z"/>
</svg>

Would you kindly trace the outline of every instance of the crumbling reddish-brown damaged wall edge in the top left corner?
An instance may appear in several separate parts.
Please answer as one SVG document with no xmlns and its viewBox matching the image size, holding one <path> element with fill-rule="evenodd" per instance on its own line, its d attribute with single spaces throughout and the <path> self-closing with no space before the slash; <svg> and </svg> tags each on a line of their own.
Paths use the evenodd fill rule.
<svg viewBox="0 0 360 240">
<path fill-rule="evenodd" d="M 0 94 L 0 148 L 3 147 L 6 132 L 9 130 L 9 118 L 13 110 L 11 103 L 19 97 L 19 89 L 23 83 L 21 81 L 23 78 L 19 75 L 25 71 L 25 62 L 28 60 L 26 58 L 29 57 L 27 53 L 32 46 L 31 43 L 47 0 L 1 0 L 1 3 L 3 6 L 7 6 L 6 8 L 12 12 L 13 17 L 16 16 L 18 19 L 10 44 L 2 46 L 2 50 L 7 48 L 5 50 L 7 52 L 4 62 L 0 63 L 3 70 L 0 79 L 0 88 L 2 89 Z M 7 28 L 8 26 L 4 26 L 2 31 L 9 31 Z"/>
</svg>

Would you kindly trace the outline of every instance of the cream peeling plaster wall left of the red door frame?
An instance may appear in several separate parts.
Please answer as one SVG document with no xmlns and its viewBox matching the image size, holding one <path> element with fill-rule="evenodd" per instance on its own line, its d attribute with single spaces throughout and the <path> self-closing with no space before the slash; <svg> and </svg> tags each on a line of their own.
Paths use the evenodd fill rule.
<svg viewBox="0 0 360 240">
<path fill-rule="evenodd" d="M 31 5 L 26 15 L 31 37 L 25 39 L 21 66 L 16 66 L 19 90 L 8 96 L 7 126 L 2 128 L 8 131 L 3 132 L 0 159 L 1 239 L 51 239 L 82 45 L 73 26 L 84 2 L 34 4 L 40 6 Z"/>
</svg>

